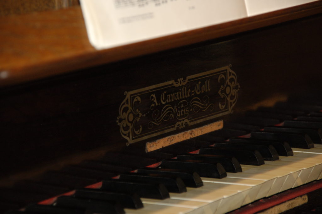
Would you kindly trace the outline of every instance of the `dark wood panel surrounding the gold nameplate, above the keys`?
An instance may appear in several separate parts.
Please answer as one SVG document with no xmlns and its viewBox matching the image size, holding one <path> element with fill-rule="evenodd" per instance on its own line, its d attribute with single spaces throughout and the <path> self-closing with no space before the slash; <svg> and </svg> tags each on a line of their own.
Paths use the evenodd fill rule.
<svg viewBox="0 0 322 214">
<path fill-rule="evenodd" d="M 267 98 L 320 88 L 322 16 L 3 88 L 2 176 L 126 140 L 116 123 L 124 92 L 232 64 L 235 112 Z M 187 127 L 191 128 L 191 127 Z M 187 129 L 186 128 L 186 129 Z M 180 130 L 181 131 L 181 130 Z"/>
</svg>

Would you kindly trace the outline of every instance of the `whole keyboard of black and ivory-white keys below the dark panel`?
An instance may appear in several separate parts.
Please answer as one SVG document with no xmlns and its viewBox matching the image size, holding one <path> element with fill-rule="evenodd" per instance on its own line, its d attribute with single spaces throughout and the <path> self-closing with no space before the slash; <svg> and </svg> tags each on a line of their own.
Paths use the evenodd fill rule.
<svg viewBox="0 0 322 214">
<path fill-rule="evenodd" d="M 233 125 L 233 124 L 232 124 Z M 283 126 L 280 126 L 283 127 Z M 223 129 L 225 130 L 225 129 Z M 265 130 L 265 128 L 264 128 Z M 301 131 L 306 129 L 299 129 Z M 313 132 L 314 129 L 309 129 Z M 195 140 L 195 148 L 198 146 L 204 146 L 204 141 L 209 135 L 215 136 L 217 138 L 220 138 L 220 132 L 221 131 L 215 131 L 211 134 L 206 134 L 200 137 L 197 137 L 197 140 Z M 228 130 L 229 132 L 229 130 Z M 234 133 L 233 131 L 231 133 Z M 263 132 L 264 133 L 264 132 Z M 251 133 L 252 135 L 252 133 Z M 299 135 L 300 136 L 300 135 Z M 320 136 L 320 135 L 319 135 Z M 269 135 L 268 135 L 269 137 Z M 264 137 L 265 138 L 265 137 Z M 308 137 L 307 139 L 309 139 Z M 321 139 L 321 138 L 320 138 Z M 319 140 L 320 140 L 319 139 Z M 194 140 L 194 139 L 193 139 Z M 19 212 L 21 214 L 28 214 L 28 213 L 56 213 L 57 209 L 93 209 L 94 212 L 99 213 L 227 213 L 229 211 L 238 209 L 242 206 L 245 206 L 253 201 L 270 197 L 272 195 L 278 194 L 279 192 L 283 192 L 298 186 L 301 186 L 303 184 L 320 180 L 322 178 L 322 146 L 321 144 L 314 144 L 314 148 L 309 149 L 303 149 L 303 148 L 291 148 L 289 149 L 289 154 L 287 156 L 282 156 L 280 154 L 283 154 L 283 150 L 278 149 L 278 146 L 273 147 L 271 144 L 267 144 L 266 146 L 262 146 L 263 148 L 271 148 L 273 151 L 277 152 L 279 154 L 279 158 L 277 160 L 271 160 L 271 161 L 264 161 L 265 163 L 250 163 L 250 164 L 241 164 L 239 165 L 239 161 L 243 163 L 245 160 L 245 157 L 236 156 L 236 158 L 228 158 L 229 161 L 227 161 L 227 158 L 223 158 L 221 155 L 213 155 L 212 151 L 214 151 L 216 148 L 221 148 L 220 145 L 225 143 L 231 143 L 231 146 L 234 144 L 236 145 L 249 145 L 245 142 L 242 144 L 236 143 L 239 141 L 246 141 L 246 142 L 268 142 L 268 143 L 275 143 L 276 145 L 279 145 L 283 148 L 289 148 L 289 144 L 292 145 L 292 141 L 288 142 L 279 142 L 278 140 L 270 141 L 267 139 L 256 139 L 253 136 L 250 138 L 247 137 L 240 137 L 240 138 L 229 138 L 226 141 L 208 141 L 209 143 L 213 144 L 208 147 L 201 147 L 198 149 L 197 154 L 196 152 L 191 151 L 193 153 L 189 154 L 179 154 L 176 156 L 176 159 L 170 159 L 172 161 L 168 160 L 162 160 L 161 161 L 161 169 L 155 168 L 156 165 L 150 166 L 149 168 L 139 168 L 135 172 L 126 173 L 124 171 L 130 171 L 128 169 L 123 169 L 123 173 L 120 173 L 118 176 L 118 179 L 121 181 L 120 185 L 116 185 L 114 183 L 112 186 L 109 185 L 109 182 L 114 180 L 118 181 L 118 179 L 112 179 L 112 180 L 106 180 L 110 177 L 114 176 L 113 169 L 103 169 L 104 164 L 102 163 L 92 163 L 93 166 L 99 167 L 100 165 L 103 165 L 101 170 L 98 172 L 90 171 L 93 167 L 86 167 L 84 164 L 79 164 L 74 167 L 67 167 L 61 174 L 58 174 L 56 177 L 53 177 L 53 181 L 50 181 L 50 179 L 43 179 L 41 182 L 38 183 L 35 181 L 30 181 L 30 183 L 26 183 L 25 185 L 14 186 L 13 190 L 23 190 L 23 188 L 28 187 L 30 184 L 33 184 L 34 186 L 39 185 L 39 187 L 44 188 L 52 187 L 53 189 L 57 189 L 61 186 L 71 186 L 71 182 L 77 181 L 77 177 L 81 178 L 92 178 L 93 174 L 94 177 L 99 179 L 105 179 L 102 183 L 98 183 L 95 187 L 97 189 L 83 189 L 83 190 L 76 190 L 67 193 L 67 195 L 72 196 L 60 196 L 58 198 L 54 198 L 52 201 L 54 202 L 55 206 L 49 205 L 52 203 L 47 201 L 41 202 L 41 204 L 47 204 L 43 206 L 47 206 L 48 208 L 44 208 L 40 205 L 29 205 L 27 206 L 25 212 Z M 191 140 L 190 140 L 191 141 Z M 198 142 L 199 141 L 199 142 Z M 235 141 L 235 143 L 233 143 Z M 185 145 L 185 142 L 180 143 L 181 145 Z M 254 143 L 253 147 L 248 148 L 248 151 L 256 150 L 256 145 L 259 145 Z M 282 146 L 284 145 L 284 146 Z M 167 150 L 171 153 L 172 151 L 175 151 L 177 148 L 172 146 L 165 147 L 163 150 L 159 151 L 160 153 Z M 257 151 L 257 150 L 256 150 Z M 258 157 L 263 159 L 263 156 L 265 156 L 265 150 L 261 149 L 259 150 L 260 154 L 258 154 Z M 242 151 L 240 151 L 242 152 Z M 293 154 L 292 154 L 293 153 Z M 107 154 L 109 155 L 109 153 Z M 126 153 L 124 154 L 126 156 Z M 321 157 L 320 157 L 321 156 Z M 119 156 L 121 157 L 121 156 Z M 137 159 L 140 157 L 137 156 Z M 248 157 L 251 158 L 251 157 Z M 223 160 L 221 160 L 223 159 Z M 176 161 L 177 160 L 177 161 Z M 194 161 L 193 161 L 194 160 Z M 199 161 L 197 161 L 199 160 Z M 264 159 L 263 159 L 264 160 Z M 108 162 L 108 159 L 102 159 L 103 163 L 104 161 Z M 117 161 L 115 159 L 114 161 Z M 155 160 L 157 162 L 157 160 Z M 85 162 L 86 163 L 86 162 Z M 116 167 L 117 166 L 116 162 Z M 148 162 L 145 162 L 148 163 Z M 174 164 L 178 163 L 178 164 Z M 197 164 L 202 163 L 202 164 Z M 216 165 L 213 165 L 214 163 L 217 163 Z M 214 169 L 223 168 L 222 165 L 218 165 L 218 163 L 222 163 L 224 165 L 225 169 L 223 169 L 224 174 L 221 176 L 218 173 L 211 174 L 211 172 Z M 235 167 L 229 167 L 228 164 L 234 164 Z M 141 163 L 142 164 L 142 163 Z M 187 167 L 185 168 L 184 164 L 187 164 Z M 200 169 L 194 169 L 194 165 L 196 164 L 197 167 L 200 167 Z M 210 167 L 204 165 L 208 164 Z M 157 164 L 159 165 L 159 164 Z M 241 166 L 241 169 L 238 168 L 238 166 Z M 219 167 L 219 168 L 218 168 Z M 232 170 L 233 168 L 233 170 Z M 79 171 L 75 171 L 75 169 L 79 169 Z M 172 170 L 171 170 L 172 169 Z M 231 170 L 233 172 L 231 172 Z M 108 172 L 109 171 L 109 172 Z M 199 172 L 200 171 L 200 172 Z M 225 172 L 228 171 L 228 172 Z M 104 172 L 106 174 L 104 174 Z M 194 174 L 191 174 L 191 172 L 194 172 Z M 205 177 L 200 177 L 196 172 L 199 172 L 200 175 Z M 88 174 L 88 173 L 91 173 Z M 117 173 L 116 173 L 117 174 Z M 59 181 L 59 176 L 71 176 L 71 181 Z M 148 176 L 149 175 L 149 176 Z M 157 175 L 157 176 L 156 176 Z M 152 177 L 151 177 L 152 176 Z M 177 177 L 177 180 L 173 180 L 173 178 Z M 165 179 L 169 179 L 168 181 Z M 179 180 L 178 180 L 179 179 Z M 90 182 L 90 181 L 89 181 Z M 138 186 L 137 188 L 133 187 L 133 184 L 140 184 L 141 186 Z M 143 183 L 142 183 L 143 182 Z M 152 193 L 153 188 L 155 188 L 154 185 L 147 185 L 144 183 L 163 183 L 165 186 L 159 187 L 158 193 Z M 47 183 L 47 184 L 46 184 Z M 199 184 L 198 184 L 199 183 Z M 77 186 L 78 185 L 78 186 Z M 81 184 L 76 184 L 76 186 L 72 186 L 73 188 L 79 188 L 81 187 Z M 116 186 L 115 186 L 116 185 Z M 128 185 L 128 187 L 123 186 Z M 175 186 L 174 186 L 175 185 Z M 179 186 L 176 186 L 179 185 Z M 322 183 L 317 182 L 316 186 L 318 188 L 321 188 Z M 187 187 L 185 187 L 187 186 Z M 93 186 L 92 186 L 93 187 Z M 179 187 L 179 189 L 177 189 Z M 112 188 L 112 189 L 111 189 Z M 125 189 L 124 189 L 125 188 Z M 165 189 L 166 188 L 166 189 Z M 130 197 L 130 194 L 126 194 L 125 192 L 128 192 L 126 189 L 132 189 L 130 192 L 135 191 L 141 196 L 141 199 L 135 196 L 134 198 L 126 199 L 123 197 L 118 197 L 117 194 L 123 194 L 128 195 L 127 197 Z M 141 190 L 149 190 L 148 192 L 140 192 Z M 95 191 L 96 190 L 96 191 Z M 42 190 L 37 190 L 35 188 L 31 188 L 28 190 L 30 192 L 41 192 Z M 62 189 L 61 193 L 66 190 Z M 123 192 L 123 193 L 116 193 L 116 192 Z M 170 193 L 168 193 L 168 191 Z M 43 191 L 44 193 L 46 191 Z M 114 193 L 112 193 L 114 192 Z M 163 192 L 163 193 L 162 193 Z M 132 192 L 133 194 L 133 192 Z M 110 196 L 108 196 L 110 195 Z M 63 198 L 66 197 L 66 198 Z M 60 200 L 60 199 L 64 200 Z M 101 205 L 95 205 L 95 200 L 102 201 L 102 200 L 115 200 L 115 198 L 118 198 L 119 202 L 122 203 L 122 205 L 125 206 L 125 209 L 123 211 L 122 208 L 108 208 Z M 92 199 L 88 202 L 85 201 L 85 199 Z M 12 199 L 15 200 L 15 199 Z M 72 202 L 70 200 L 76 200 L 75 202 Z M 78 201 L 77 201 L 78 200 Z M 126 201 L 133 201 L 131 203 L 137 204 L 137 205 L 128 205 L 128 202 Z M 63 201 L 63 202 L 61 202 Z M 66 201 L 66 202 L 64 202 Z M 94 203 L 94 204 L 93 204 Z M 88 205 L 84 205 L 88 204 Z M 140 206 L 141 204 L 141 206 Z M 40 207 L 39 207 L 40 206 Z M 92 206 L 95 207 L 92 208 Z M 134 206 L 134 207 L 133 207 Z M 66 208 L 67 207 L 67 208 Z M 99 210 L 96 210 L 96 207 Z M 136 208 L 136 209 L 133 209 Z M 33 210 L 36 209 L 36 210 Z M 39 209 L 37 211 L 37 209 Z M 52 209 L 52 210 L 50 210 Z M 64 210 L 66 213 L 68 210 Z M 73 212 L 72 210 L 70 210 Z M 57 211 L 58 212 L 58 211 Z M 8 213 L 16 213 L 14 211 L 8 212 Z"/>
</svg>

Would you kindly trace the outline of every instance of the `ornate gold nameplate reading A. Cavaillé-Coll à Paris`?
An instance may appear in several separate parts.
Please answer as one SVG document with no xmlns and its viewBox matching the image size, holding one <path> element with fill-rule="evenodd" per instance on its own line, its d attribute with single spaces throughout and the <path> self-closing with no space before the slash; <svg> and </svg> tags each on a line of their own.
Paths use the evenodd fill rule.
<svg viewBox="0 0 322 214">
<path fill-rule="evenodd" d="M 126 91 L 117 123 L 127 145 L 232 113 L 240 85 L 230 67 Z"/>
</svg>

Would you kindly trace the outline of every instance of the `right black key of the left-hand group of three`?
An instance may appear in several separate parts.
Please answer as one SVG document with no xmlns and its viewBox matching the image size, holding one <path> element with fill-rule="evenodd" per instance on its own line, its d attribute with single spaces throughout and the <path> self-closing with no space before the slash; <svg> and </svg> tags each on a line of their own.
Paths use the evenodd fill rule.
<svg viewBox="0 0 322 214">
<path fill-rule="evenodd" d="M 163 169 L 163 168 L 140 168 L 137 173 L 166 175 L 170 177 L 181 178 L 187 187 L 202 187 L 204 186 L 199 174 L 197 172 L 185 172 L 176 169 Z"/>
</svg>

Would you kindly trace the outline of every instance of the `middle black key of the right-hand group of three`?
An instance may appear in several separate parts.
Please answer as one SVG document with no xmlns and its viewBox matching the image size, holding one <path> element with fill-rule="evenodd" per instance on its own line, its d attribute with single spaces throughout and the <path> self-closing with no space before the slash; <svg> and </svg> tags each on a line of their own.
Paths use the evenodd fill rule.
<svg viewBox="0 0 322 214">
<path fill-rule="evenodd" d="M 216 142 L 214 144 L 214 147 L 221 147 L 221 148 L 227 148 L 227 149 L 235 149 L 235 150 L 249 150 L 254 151 L 257 150 L 260 152 L 261 156 L 266 161 L 276 161 L 279 159 L 279 154 L 275 150 L 275 148 L 272 145 L 252 145 L 252 144 L 236 144 L 236 143 L 230 143 L 230 142 Z"/>
</svg>

